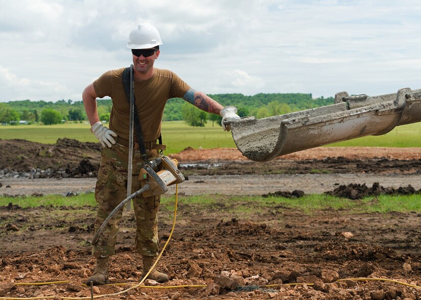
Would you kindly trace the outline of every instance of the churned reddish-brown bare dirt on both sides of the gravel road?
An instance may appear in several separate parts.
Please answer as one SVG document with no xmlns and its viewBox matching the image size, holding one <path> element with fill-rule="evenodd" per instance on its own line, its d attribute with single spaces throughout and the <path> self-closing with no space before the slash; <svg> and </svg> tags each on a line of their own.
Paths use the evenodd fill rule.
<svg viewBox="0 0 421 300">
<path fill-rule="evenodd" d="M 8 152 L 9 158 L 1 156 L 0 169 L 55 168 L 54 163 L 60 161 L 60 168 L 77 170 L 82 158 L 88 158 L 90 165 L 97 163 L 97 145 L 65 142 L 64 146 L 48 146 L 0 141 L 2 153 L 5 149 L 9 152 L 15 149 L 13 153 Z M 49 159 L 44 159 L 45 153 L 50 153 Z M 19 155 L 28 159 L 16 161 Z M 42 159 L 38 160 L 37 156 Z M 269 163 L 247 161 L 235 149 L 186 149 L 174 156 L 185 163 L 183 173 L 190 178 L 224 174 L 227 181 L 229 176 L 239 175 L 267 181 L 265 176 L 314 174 L 323 178 L 336 174 L 339 178 L 348 174 L 355 178 L 364 175 L 397 179 L 419 175 L 421 149 L 317 148 Z M 209 168 L 212 163 L 216 166 Z M 82 173 L 73 174 L 83 177 Z M 238 181 L 235 187 L 240 195 L 244 186 Z M 3 192 L 0 193 L 3 194 L 5 188 L 1 187 Z M 283 188 L 279 185 L 277 189 Z M 276 202 L 263 208 L 241 198 L 228 202 L 224 194 L 215 197 L 220 200 L 216 207 L 186 204 L 183 196 L 180 197 L 175 232 L 158 264 L 170 278 L 163 286 L 206 287 L 136 288 L 106 298 L 421 299 L 420 288 L 399 283 L 336 281 L 370 277 L 421 285 L 419 213 L 352 215 L 346 211 L 320 210 L 306 214 Z M 81 279 L 87 278 L 93 269 L 89 241 L 93 235 L 94 208 L 22 209 L 18 206 L 19 199 L 16 197 L 9 206 L 0 208 L 0 297 L 90 298 L 90 289 L 81 284 Z M 359 200 L 349 201 L 359 203 Z M 372 203 L 376 201 L 373 196 Z M 240 207 L 242 209 L 236 209 Z M 255 213 L 231 212 L 244 211 L 245 207 Z M 125 216 L 117 241 L 117 255 L 111 260 L 111 283 L 140 281 L 141 260 L 133 253 L 134 217 L 130 212 L 125 212 Z M 171 224 L 171 209 L 162 208 L 161 246 L 168 238 Z M 70 283 L 20 285 L 67 280 Z M 314 283 L 314 286 L 287 285 L 296 282 Z M 98 287 L 94 294 L 109 294 L 124 288 Z"/>
</svg>

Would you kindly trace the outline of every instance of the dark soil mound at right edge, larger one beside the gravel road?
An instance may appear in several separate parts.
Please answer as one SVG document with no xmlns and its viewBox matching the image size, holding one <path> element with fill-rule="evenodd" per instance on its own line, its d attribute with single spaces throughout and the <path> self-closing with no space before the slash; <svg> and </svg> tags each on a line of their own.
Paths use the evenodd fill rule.
<svg viewBox="0 0 421 300">
<path fill-rule="evenodd" d="M 325 192 L 327 195 L 332 195 L 341 198 L 348 198 L 352 200 L 362 199 L 369 196 L 379 195 L 412 195 L 421 194 L 421 189 L 416 190 L 412 185 L 394 187 L 383 187 L 379 182 L 373 183 L 372 187 L 364 184 L 350 183 L 348 185 L 340 185 L 330 192 Z"/>
</svg>

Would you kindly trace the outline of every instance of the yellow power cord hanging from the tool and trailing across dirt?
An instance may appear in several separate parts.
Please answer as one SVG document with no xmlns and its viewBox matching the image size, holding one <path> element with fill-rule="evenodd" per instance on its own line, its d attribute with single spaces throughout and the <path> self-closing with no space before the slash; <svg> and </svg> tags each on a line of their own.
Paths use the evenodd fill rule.
<svg viewBox="0 0 421 300">
<path fill-rule="evenodd" d="M 143 281 L 147 278 L 147 276 L 151 273 L 151 271 L 155 268 L 156 264 L 158 263 L 159 259 L 162 256 L 162 253 L 164 253 L 165 248 L 167 247 L 167 244 L 169 240 L 171 239 L 172 233 L 174 232 L 174 228 L 176 227 L 176 218 L 177 218 L 177 204 L 178 204 L 178 184 L 176 184 L 176 203 L 174 208 L 174 220 L 172 221 L 172 228 L 171 232 L 169 233 L 168 239 L 164 244 L 164 247 L 162 248 L 160 254 L 158 255 L 157 259 L 155 260 L 155 263 L 152 265 L 151 269 L 146 273 L 146 275 L 143 277 L 143 279 L 138 284 L 131 284 L 131 283 L 115 283 L 115 284 L 106 284 L 106 285 L 132 285 L 130 288 L 113 293 L 113 294 L 103 294 L 103 295 L 96 295 L 96 296 L 86 296 L 86 297 L 61 297 L 63 300 L 80 300 L 80 299 L 97 299 L 102 297 L 109 297 L 109 296 L 115 296 L 122 293 L 126 293 L 134 288 L 141 287 L 141 288 L 155 288 L 155 289 L 169 289 L 169 288 L 186 288 L 186 287 L 206 287 L 206 285 L 177 285 L 177 286 L 146 286 L 141 285 Z M 386 278 L 344 278 L 344 279 L 338 279 L 339 281 L 346 281 L 346 280 L 352 280 L 352 281 L 388 281 L 393 283 L 402 284 L 409 287 L 414 288 L 421 288 L 421 286 L 392 280 L 392 279 L 386 279 Z M 23 282 L 23 283 L 15 283 L 15 285 L 47 285 L 47 284 L 61 284 L 61 283 L 69 283 L 70 280 L 64 280 L 64 281 L 52 281 L 52 282 L 37 282 L 37 283 L 30 283 L 30 282 Z M 289 286 L 295 286 L 295 285 L 302 285 L 304 283 L 286 283 L 286 284 L 270 284 L 265 285 L 263 287 L 276 287 L 280 285 L 289 285 Z M 313 283 L 306 284 L 307 286 L 313 286 Z M 0 300 L 36 300 L 36 299 L 54 299 L 56 296 L 43 296 L 43 297 L 32 297 L 32 298 L 22 298 L 22 297 L 0 297 Z"/>
</svg>

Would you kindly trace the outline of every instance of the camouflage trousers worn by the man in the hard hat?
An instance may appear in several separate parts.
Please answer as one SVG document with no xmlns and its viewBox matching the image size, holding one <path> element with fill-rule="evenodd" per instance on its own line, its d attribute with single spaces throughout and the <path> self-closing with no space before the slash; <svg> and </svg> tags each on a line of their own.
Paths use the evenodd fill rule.
<svg viewBox="0 0 421 300">
<path fill-rule="evenodd" d="M 133 151 L 132 193 L 140 188 L 138 179 L 143 160 L 139 150 Z M 95 219 L 95 232 L 113 209 L 127 197 L 127 168 L 129 148 L 115 144 L 102 150 L 102 159 L 95 187 L 95 200 L 98 211 Z M 158 150 L 147 151 L 148 159 L 159 156 Z M 160 195 L 143 198 L 141 195 L 133 199 L 136 217 L 136 251 L 141 255 L 158 255 L 158 220 Z M 122 218 L 122 209 L 114 214 L 104 229 L 103 234 L 92 248 L 92 255 L 107 257 L 115 253 L 118 223 Z"/>
</svg>

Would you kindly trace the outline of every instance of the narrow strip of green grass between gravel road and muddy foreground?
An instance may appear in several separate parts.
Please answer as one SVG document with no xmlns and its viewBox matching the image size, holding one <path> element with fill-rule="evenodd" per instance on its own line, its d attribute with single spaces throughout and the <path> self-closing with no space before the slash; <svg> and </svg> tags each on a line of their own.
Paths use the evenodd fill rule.
<svg viewBox="0 0 421 300">
<path fill-rule="evenodd" d="M 217 210 L 220 203 L 226 203 L 224 208 L 227 212 L 241 214 L 255 214 L 270 210 L 276 206 L 285 206 L 299 209 L 305 213 L 312 214 L 323 209 L 333 209 L 340 213 L 387 213 L 387 212 L 421 212 L 419 195 L 405 196 L 378 196 L 376 201 L 373 197 L 362 200 L 349 200 L 328 195 L 306 195 L 300 199 L 289 199 L 282 197 L 260 196 L 225 196 L 225 195 L 200 195 L 180 196 L 179 202 L 183 204 L 200 205 L 211 210 Z M 78 209 L 84 207 L 95 207 L 94 194 L 81 194 L 73 197 L 61 195 L 46 195 L 42 197 L 0 197 L 0 206 L 7 206 L 9 203 L 18 204 L 22 208 L 38 207 L 41 205 L 60 208 L 61 206 L 72 206 Z M 241 205 L 241 203 L 253 203 Z M 174 210 L 175 195 L 162 195 L 161 209 L 166 211 Z"/>
</svg>

